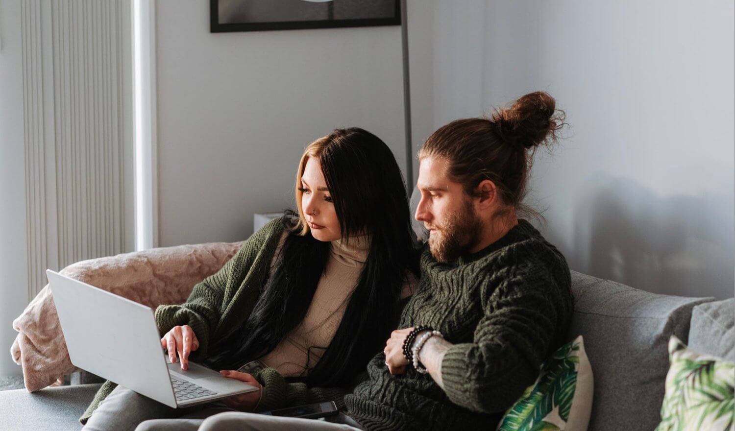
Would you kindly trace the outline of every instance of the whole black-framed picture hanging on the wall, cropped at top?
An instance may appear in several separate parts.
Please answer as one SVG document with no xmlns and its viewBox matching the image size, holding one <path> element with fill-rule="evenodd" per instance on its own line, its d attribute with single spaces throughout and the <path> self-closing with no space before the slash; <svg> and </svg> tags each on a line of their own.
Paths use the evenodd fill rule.
<svg viewBox="0 0 735 431">
<path fill-rule="evenodd" d="M 209 0 L 210 32 L 401 25 L 401 0 Z"/>
</svg>

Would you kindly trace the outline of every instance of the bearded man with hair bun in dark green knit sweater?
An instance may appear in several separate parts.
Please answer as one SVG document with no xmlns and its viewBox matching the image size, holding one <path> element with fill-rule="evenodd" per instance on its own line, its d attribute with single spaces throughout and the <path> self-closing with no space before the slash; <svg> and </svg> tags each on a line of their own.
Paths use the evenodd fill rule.
<svg viewBox="0 0 735 431">
<path fill-rule="evenodd" d="M 370 362 L 369 380 L 345 396 L 362 427 L 492 430 L 564 343 L 573 310 L 569 268 L 517 218 L 526 149 L 562 125 L 553 103 L 531 93 L 490 120 L 443 126 L 423 145 L 415 217 L 429 229 L 429 246 L 403 329 Z M 415 334 L 411 347 L 420 349 L 410 363 L 404 341 L 419 325 L 438 332 Z"/>
</svg>

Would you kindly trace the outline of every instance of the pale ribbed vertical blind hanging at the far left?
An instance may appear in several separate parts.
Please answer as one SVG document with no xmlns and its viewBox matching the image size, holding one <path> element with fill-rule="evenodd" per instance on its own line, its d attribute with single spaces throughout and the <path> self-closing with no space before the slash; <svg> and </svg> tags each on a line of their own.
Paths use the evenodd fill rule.
<svg viewBox="0 0 735 431">
<path fill-rule="evenodd" d="M 23 0 L 29 299 L 46 268 L 132 251 L 129 0 Z"/>
</svg>

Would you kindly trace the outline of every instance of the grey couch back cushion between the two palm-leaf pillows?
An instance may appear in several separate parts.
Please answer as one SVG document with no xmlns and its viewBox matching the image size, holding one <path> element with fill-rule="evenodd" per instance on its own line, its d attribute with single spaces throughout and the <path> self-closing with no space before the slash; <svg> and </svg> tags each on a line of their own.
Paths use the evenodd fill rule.
<svg viewBox="0 0 735 431">
<path fill-rule="evenodd" d="M 714 298 L 674 297 L 572 271 L 569 339 L 584 336 L 595 396 L 589 430 L 653 430 L 669 369 L 668 341 L 689 333 L 692 308 Z"/>
</svg>

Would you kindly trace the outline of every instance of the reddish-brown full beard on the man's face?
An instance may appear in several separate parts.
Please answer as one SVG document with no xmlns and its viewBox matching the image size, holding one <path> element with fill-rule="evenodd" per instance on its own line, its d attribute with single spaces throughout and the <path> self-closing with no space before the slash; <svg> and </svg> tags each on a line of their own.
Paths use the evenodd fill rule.
<svg viewBox="0 0 735 431">
<path fill-rule="evenodd" d="M 429 236 L 429 250 L 437 261 L 456 261 L 480 241 L 481 222 L 475 214 L 470 200 L 460 211 L 449 214 L 441 225 L 432 225 L 434 233 Z"/>
</svg>

